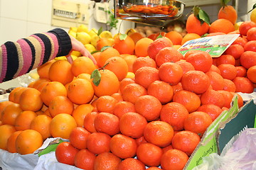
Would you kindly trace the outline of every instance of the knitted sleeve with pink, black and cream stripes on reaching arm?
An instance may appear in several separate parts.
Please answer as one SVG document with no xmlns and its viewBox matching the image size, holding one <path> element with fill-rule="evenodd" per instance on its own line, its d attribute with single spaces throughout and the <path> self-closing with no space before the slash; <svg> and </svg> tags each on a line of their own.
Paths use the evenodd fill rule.
<svg viewBox="0 0 256 170">
<path fill-rule="evenodd" d="M 68 33 L 60 28 L 5 42 L 0 47 L 0 83 L 26 74 L 55 57 L 68 55 L 71 49 Z"/>
</svg>

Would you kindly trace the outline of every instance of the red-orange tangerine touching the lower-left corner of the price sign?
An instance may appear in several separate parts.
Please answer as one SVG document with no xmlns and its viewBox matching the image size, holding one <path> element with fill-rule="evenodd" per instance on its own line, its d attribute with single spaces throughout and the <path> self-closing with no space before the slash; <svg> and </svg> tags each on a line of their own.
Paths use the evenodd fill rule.
<svg viewBox="0 0 256 170">
<path fill-rule="evenodd" d="M 183 59 L 183 55 L 174 47 L 164 47 L 156 54 L 156 65 L 158 67 L 165 62 L 178 62 Z"/>
</svg>

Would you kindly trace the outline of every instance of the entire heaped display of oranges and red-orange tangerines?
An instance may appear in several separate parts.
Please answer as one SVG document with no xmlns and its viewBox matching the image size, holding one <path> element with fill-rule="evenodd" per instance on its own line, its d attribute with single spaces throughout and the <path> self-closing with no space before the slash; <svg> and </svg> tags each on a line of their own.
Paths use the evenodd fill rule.
<svg viewBox="0 0 256 170">
<path fill-rule="evenodd" d="M 204 33 L 223 34 L 223 20 L 185 37 L 117 35 L 112 47 L 93 54 L 97 65 L 87 57 L 43 64 L 38 80 L 0 103 L 0 149 L 31 154 L 48 137 L 62 137 L 69 142 L 58 145 L 58 162 L 81 169 L 183 169 L 236 92 L 252 93 L 256 84 L 252 21 L 218 58 L 178 52 Z"/>
</svg>

